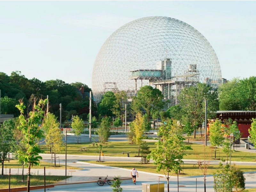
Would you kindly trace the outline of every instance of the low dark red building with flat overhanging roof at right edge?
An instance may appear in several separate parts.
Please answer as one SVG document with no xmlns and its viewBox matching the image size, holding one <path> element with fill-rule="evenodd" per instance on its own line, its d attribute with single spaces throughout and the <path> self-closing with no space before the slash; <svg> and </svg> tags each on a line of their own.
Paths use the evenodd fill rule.
<svg viewBox="0 0 256 192">
<path fill-rule="evenodd" d="M 221 121 L 231 118 L 237 122 L 242 138 L 248 137 L 252 118 L 256 118 L 256 111 L 217 111 L 217 118 Z"/>
</svg>

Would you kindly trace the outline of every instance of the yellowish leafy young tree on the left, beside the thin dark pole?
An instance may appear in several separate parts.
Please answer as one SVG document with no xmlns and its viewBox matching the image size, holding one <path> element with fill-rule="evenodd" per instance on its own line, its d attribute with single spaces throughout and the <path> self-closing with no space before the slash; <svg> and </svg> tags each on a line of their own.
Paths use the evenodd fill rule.
<svg viewBox="0 0 256 192">
<path fill-rule="evenodd" d="M 60 123 L 57 122 L 57 117 L 52 113 L 48 113 L 44 121 L 42 129 L 45 135 L 45 144 L 50 147 L 51 153 L 54 153 L 54 166 L 56 167 L 56 153 L 64 149 L 63 136 L 61 135 Z"/>
</svg>

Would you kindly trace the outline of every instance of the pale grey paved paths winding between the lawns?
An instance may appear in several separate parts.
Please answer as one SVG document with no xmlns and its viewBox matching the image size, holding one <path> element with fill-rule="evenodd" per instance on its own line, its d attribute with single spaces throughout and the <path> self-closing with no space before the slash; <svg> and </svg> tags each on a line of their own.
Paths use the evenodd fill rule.
<svg viewBox="0 0 256 192">
<path fill-rule="evenodd" d="M 123 139 L 123 138 L 122 138 Z M 122 140 L 121 139 L 121 140 Z M 118 138 L 115 138 L 118 140 Z M 202 142 L 201 142 L 202 143 Z M 255 149 L 252 148 L 251 150 L 243 149 L 241 144 L 241 150 L 243 151 L 250 151 L 255 153 Z M 238 149 L 237 149 L 238 150 Z M 50 161 L 51 155 L 49 154 L 41 154 L 44 161 Z M 60 164 L 65 165 L 65 155 L 58 155 L 60 157 Z M 49 188 L 47 191 L 70 191 L 70 192 L 112 192 L 112 188 L 108 185 L 104 186 L 97 186 L 96 185 L 88 185 L 88 183 L 84 183 L 86 181 L 95 181 L 98 177 L 108 177 L 113 178 L 114 176 L 121 176 L 123 178 L 131 178 L 131 170 L 123 169 L 123 168 L 116 168 L 98 164 L 90 164 L 80 161 L 86 160 L 95 160 L 95 156 L 82 156 L 82 155 L 68 155 L 67 165 L 80 167 L 82 170 L 68 170 L 67 175 L 72 176 L 67 180 L 61 181 L 57 184 L 69 183 L 69 185 L 59 185 L 54 188 Z M 140 157 L 104 157 L 105 161 L 127 161 L 127 162 L 138 162 L 140 161 Z M 185 163 L 194 164 L 196 160 L 184 160 Z M 233 162 L 232 162 L 233 163 Z M 219 161 L 211 161 L 211 164 L 219 164 Z M 256 166 L 255 162 L 236 162 L 236 164 L 251 164 L 252 166 Z M 12 169 L 12 173 L 17 172 L 17 169 Z M 142 183 L 147 182 L 160 182 L 165 183 L 165 191 L 167 191 L 166 179 L 164 175 L 155 174 L 155 173 L 148 173 L 148 172 L 139 172 L 139 177 L 137 179 L 137 185 L 132 184 L 132 180 L 128 180 L 129 183 L 123 183 L 122 188 L 124 192 L 141 192 L 142 191 Z M 32 169 L 32 173 L 35 174 L 43 174 L 43 169 Z M 65 170 L 46 170 L 46 175 L 65 175 Z M 246 188 L 255 188 L 256 186 L 256 173 L 246 173 L 244 174 L 246 178 Z M 162 178 L 164 177 L 164 178 Z M 127 181 L 126 181 L 127 182 Z M 76 183 L 76 184 L 70 184 Z M 197 186 L 196 186 L 197 183 Z M 95 183 L 94 183 L 95 184 Z M 177 183 L 177 176 L 172 176 L 170 178 L 170 191 L 176 192 L 178 183 Z M 179 177 L 179 191 L 180 192 L 203 192 L 204 191 L 204 177 L 197 176 L 197 177 Z M 211 175 L 206 177 L 206 188 L 207 192 L 214 192 L 213 190 L 213 177 Z M 43 192 L 44 189 L 35 190 L 35 192 Z"/>
</svg>

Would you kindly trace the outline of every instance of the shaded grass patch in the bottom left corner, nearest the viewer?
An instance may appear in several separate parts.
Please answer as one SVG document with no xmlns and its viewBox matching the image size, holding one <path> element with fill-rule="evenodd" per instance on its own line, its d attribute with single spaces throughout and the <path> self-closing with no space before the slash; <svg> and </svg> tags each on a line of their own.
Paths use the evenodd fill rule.
<svg viewBox="0 0 256 192">
<path fill-rule="evenodd" d="M 64 180 L 68 177 L 65 176 L 45 176 L 45 184 L 51 185 L 58 181 Z M 21 181 L 21 175 L 11 175 L 11 188 L 15 187 L 26 187 L 27 182 L 18 182 Z M 24 176 L 24 180 L 27 179 L 27 176 Z M 32 175 L 30 177 L 30 186 L 44 185 L 44 176 L 41 175 Z M 9 176 L 0 176 L 0 189 L 9 188 Z"/>
</svg>

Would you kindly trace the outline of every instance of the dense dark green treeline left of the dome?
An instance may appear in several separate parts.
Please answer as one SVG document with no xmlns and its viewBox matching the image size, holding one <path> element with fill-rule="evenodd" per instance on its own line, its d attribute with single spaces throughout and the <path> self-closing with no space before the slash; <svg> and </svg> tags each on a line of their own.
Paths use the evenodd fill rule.
<svg viewBox="0 0 256 192">
<path fill-rule="evenodd" d="M 84 94 L 79 91 L 84 87 Z M 83 120 L 87 119 L 89 113 L 89 88 L 86 84 L 65 83 L 60 79 L 48 80 L 45 82 L 37 78 L 28 79 L 20 71 L 11 73 L 11 76 L 0 72 L 1 90 L 1 114 L 20 115 L 15 105 L 23 99 L 26 106 L 33 103 L 34 98 L 49 98 L 49 112 L 59 118 L 60 103 L 62 104 L 62 120 L 65 121 L 75 115 Z M 29 109 L 28 109 L 29 110 Z M 92 107 L 93 115 L 96 115 L 96 108 Z"/>
</svg>

